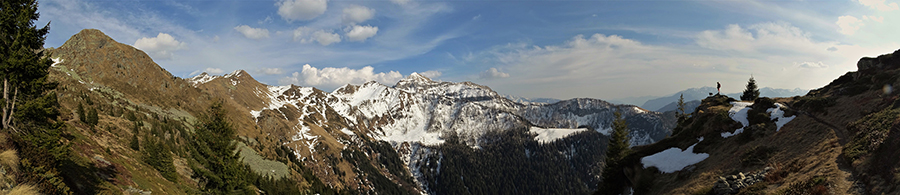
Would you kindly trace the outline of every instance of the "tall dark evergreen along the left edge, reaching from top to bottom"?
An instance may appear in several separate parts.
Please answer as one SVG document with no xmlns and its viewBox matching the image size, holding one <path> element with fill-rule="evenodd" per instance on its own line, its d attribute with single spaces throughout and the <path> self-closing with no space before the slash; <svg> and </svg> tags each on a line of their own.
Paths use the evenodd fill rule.
<svg viewBox="0 0 900 195">
<path fill-rule="evenodd" d="M 21 157 L 17 181 L 43 194 L 72 194 L 59 171 L 70 149 L 59 101 L 49 91 L 56 88 L 47 80 L 52 61 L 43 50 L 50 24 L 35 26 L 37 10 L 37 0 L 0 1 L 0 128 L 14 132 Z"/>
</svg>

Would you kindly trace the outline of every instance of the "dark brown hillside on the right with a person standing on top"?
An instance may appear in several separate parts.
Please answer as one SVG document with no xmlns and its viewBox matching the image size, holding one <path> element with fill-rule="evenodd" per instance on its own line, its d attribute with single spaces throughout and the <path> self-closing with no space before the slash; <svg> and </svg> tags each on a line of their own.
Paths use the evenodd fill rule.
<svg viewBox="0 0 900 195">
<path fill-rule="evenodd" d="M 900 193 L 900 50 L 877 58 L 863 58 L 849 72 L 806 96 L 758 99 L 750 111 L 750 125 L 729 138 L 741 125 L 728 116 L 734 101 L 712 96 L 675 129 L 672 137 L 635 147 L 626 158 L 637 194 L 716 194 L 719 177 L 774 168 L 763 182 L 739 194 L 898 194 Z M 769 102 L 769 103 L 766 103 Z M 789 107 L 796 116 L 776 131 L 768 114 L 754 119 L 754 111 L 772 102 Z M 699 141 L 699 137 L 704 137 Z M 641 158 L 671 147 L 708 153 L 705 160 L 674 173 L 644 168 Z"/>
</svg>

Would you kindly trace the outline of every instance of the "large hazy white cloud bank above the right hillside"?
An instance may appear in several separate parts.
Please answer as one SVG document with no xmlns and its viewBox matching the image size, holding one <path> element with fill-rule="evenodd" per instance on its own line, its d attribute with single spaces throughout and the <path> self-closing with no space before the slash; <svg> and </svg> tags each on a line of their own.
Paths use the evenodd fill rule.
<svg viewBox="0 0 900 195">
<path fill-rule="evenodd" d="M 710 86 L 715 81 L 733 86 L 723 88 L 725 92 L 738 92 L 750 74 L 767 87 L 816 88 L 855 70 L 861 56 L 887 51 L 812 37 L 783 22 L 697 32 L 696 45 L 648 45 L 617 35 L 578 35 L 555 45 L 496 46 L 476 55 L 480 59 L 475 61 L 510 75 L 481 81 L 504 93 L 617 98 Z"/>
</svg>

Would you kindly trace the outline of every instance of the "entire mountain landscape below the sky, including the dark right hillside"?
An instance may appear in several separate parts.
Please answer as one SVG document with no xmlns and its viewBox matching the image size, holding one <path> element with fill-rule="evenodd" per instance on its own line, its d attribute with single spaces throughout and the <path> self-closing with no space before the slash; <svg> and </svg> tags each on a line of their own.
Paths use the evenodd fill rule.
<svg viewBox="0 0 900 195">
<path fill-rule="evenodd" d="M 416 73 L 330 92 L 266 85 L 243 70 L 179 78 L 93 29 L 45 51 L 58 142 L 71 148 L 62 167 L 74 168 L 50 182 L 71 194 L 207 191 L 215 181 L 202 175 L 218 169 L 198 143 L 234 146 L 225 153 L 249 173 L 228 177 L 245 178 L 256 194 L 900 192 L 900 95 L 890 90 L 900 85 L 900 50 L 862 58 L 857 71 L 808 93 L 763 88 L 763 97 L 738 101 L 689 89 L 676 95 L 695 109 L 680 118 L 590 98 L 515 98 Z M 806 95 L 790 95 L 798 93 Z M 668 110 L 677 98 L 647 103 Z M 630 152 L 605 159 L 617 112 Z M 201 142 L 215 117 L 235 136 Z M 619 189 L 598 191 L 609 182 Z"/>
</svg>

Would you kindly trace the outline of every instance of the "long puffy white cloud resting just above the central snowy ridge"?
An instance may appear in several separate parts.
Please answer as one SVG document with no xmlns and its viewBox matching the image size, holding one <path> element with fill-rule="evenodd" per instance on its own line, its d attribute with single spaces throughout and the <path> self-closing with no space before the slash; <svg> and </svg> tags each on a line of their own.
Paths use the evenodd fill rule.
<svg viewBox="0 0 900 195">
<path fill-rule="evenodd" d="M 294 72 L 291 76 L 282 78 L 281 84 L 297 84 L 302 86 L 316 86 L 322 88 L 335 88 L 345 84 L 362 84 L 368 81 L 376 81 L 384 84 L 396 83 L 403 78 L 397 71 L 375 73 L 374 68 L 366 66 L 361 69 L 351 68 L 316 68 L 309 64 L 303 65 L 301 72 Z"/>
</svg>

